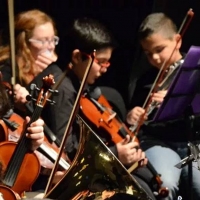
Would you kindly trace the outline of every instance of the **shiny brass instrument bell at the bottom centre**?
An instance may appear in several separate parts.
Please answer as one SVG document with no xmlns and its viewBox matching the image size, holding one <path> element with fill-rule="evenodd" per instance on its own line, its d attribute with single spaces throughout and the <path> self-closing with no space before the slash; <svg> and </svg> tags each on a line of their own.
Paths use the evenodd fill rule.
<svg viewBox="0 0 200 200">
<path fill-rule="evenodd" d="M 45 198 L 151 199 L 86 122 L 80 116 L 77 119 L 80 125 L 80 144 L 74 161 Z"/>
</svg>

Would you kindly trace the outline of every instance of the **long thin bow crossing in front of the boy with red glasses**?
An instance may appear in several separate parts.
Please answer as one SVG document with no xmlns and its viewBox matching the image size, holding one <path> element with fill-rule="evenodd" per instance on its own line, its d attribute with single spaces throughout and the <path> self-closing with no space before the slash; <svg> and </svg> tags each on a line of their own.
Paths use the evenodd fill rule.
<svg viewBox="0 0 200 200">
<path fill-rule="evenodd" d="M 95 52 L 96 52 L 96 50 L 94 50 L 93 53 L 88 57 L 89 58 L 88 65 L 87 65 L 87 68 L 85 70 L 84 77 L 83 77 L 83 79 L 81 81 L 81 86 L 79 88 L 79 91 L 78 91 L 74 106 L 73 106 L 72 111 L 71 111 L 71 115 L 69 117 L 69 121 L 67 123 L 67 127 L 66 127 L 64 135 L 63 135 L 63 139 L 61 141 L 58 157 L 57 157 L 57 159 L 55 161 L 55 164 L 54 164 L 54 167 L 53 167 L 53 169 L 51 171 L 47 186 L 45 188 L 44 196 L 46 196 L 47 193 L 49 192 L 49 190 L 51 189 L 53 177 L 54 177 L 55 172 L 56 172 L 56 170 L 58 168 L 58 163 L 59 163 L 59 160 L 60 160 L 60 158 L 62 156 L 62 152 L 63 152 L 64 147 L 65 147 L 67 136 L 69 135 L 69 132 L 71 131 L 72 124 L 73 124 L 73 122 L 75 120 L 75 117 L 76 117 L 76 111 L 79 108 L 80 98 L 81 98 L 81 95 L 83 94 L 83 90 L 84 90 L 85 85 L 86 85 L 87 77 L 89 75 L 90 69 L 91 69 L 93 61 L 95 59 Z"/>
</svg>

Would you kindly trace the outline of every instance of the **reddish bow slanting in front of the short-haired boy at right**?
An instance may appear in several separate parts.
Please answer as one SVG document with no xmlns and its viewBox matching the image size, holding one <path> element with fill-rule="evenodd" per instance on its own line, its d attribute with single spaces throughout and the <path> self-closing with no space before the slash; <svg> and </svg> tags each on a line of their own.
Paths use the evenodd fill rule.
<svg viewBox="0 0 200 200">
<path fill-rule="evenodd" d="M 158 90 L 159 84 L 160 84 L 160 82 L 162 82 L 162 79 L 163 79 L 165 70 L 166 70 L 167 67 L 168 67 L 168 63 L 169 63 L 170 59 L 172 58 L 172 56 L 173 56 L 173 54 L 174 54 L 174 52 L 175 52 L 175 50 L 176 50 L 176 47 L 177 47 L 178 43 L 179 43 L 180 40 L 183 38 L 183 36 L 184 36 L 184 34 L 185 34 L 185 32 L 186 32 L 186 30 L 187 30 L 187 28 L 188 28 L 190 22 L 192 21 L 193 16 L 194 16 L 194 12 L 193 12 L 192 9 L 190 8 L 190 9 L 188 10 L 186 16 L 184 17 L 184 19 L 183 19 L 183 21 L 182 21 L 182 23 L 181 23 L 181 26 L 180 26 L 180 28 L 179 28 L 179 30 L 178 30 L 178 32 L 177 32 L 178 34 L 180 34 L 180 37 L 178 38 L 178 40 L 177 40 L 177 42 L 176 42 L 176 45 L 175 45 L 173 51 L 171 52 L 169 58 L 166 59 L 166 60 L 163 62 L 162 66 L 161 66 L 161 68 L 160 68 L 160 70 L 159 70 L 159 72 L 158 72 L 158 75 L 156 76 L 156 79 L 154 80 L 154 83 L 153 83 L 153 85 L 152 85 L 152 87 L 151 87 L 151 89 L 150 89 L 150 91 L 149 91 L 149 94 L 148 94 L 148 96 L 147 96 L 147 98 L 146 98 L 146 100 L 145 100 L 145 102 L 144 102 L 144 104 L 143 104 L 143 106 L 142 106 L 142 107 L 145 109 L 145 112 L 141 115 L 139 121 L 137 122 L 136 128 L 135 128 L 135 125 L 133 125 L 133 126 L 130 127 L 130 130 L 131 130 L 131 131 L 135 130 L 135 135 L 138 134 L 138 131 L 139 131 L 141 125 L 142 125 L 143 122 L 144 122 L 144 116 L 145 116 L 145 114 L 147 113 L 148 107 L 149 107 L 149 105 L 150 105 L 151 102 L 152 102 L 152 98 L 150 98 L 150 97 L 152 96 L 153 93 L 155 93 L 155 92 Z"/>
</svg>

